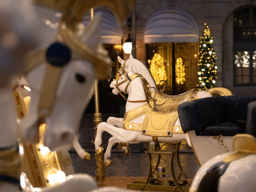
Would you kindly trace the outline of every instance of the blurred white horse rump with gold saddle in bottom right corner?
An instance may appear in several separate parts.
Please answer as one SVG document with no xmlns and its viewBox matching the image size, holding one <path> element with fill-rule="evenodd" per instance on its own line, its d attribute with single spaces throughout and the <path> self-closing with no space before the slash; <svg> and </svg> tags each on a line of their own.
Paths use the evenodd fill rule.
<svg viewBox="0 0 256 192">
<path fill-rule="evenodd" d="M 255 188 L 256 138 L 237 134 L 233 152 L 208 160 L 197 171 L 190 192 L 251 192 Z"/>
</svg>

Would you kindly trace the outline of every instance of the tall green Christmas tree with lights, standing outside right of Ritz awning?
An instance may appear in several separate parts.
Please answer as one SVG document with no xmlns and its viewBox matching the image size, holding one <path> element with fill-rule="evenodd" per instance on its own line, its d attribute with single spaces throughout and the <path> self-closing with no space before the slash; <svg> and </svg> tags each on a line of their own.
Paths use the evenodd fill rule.
<svg viewBox="0 0 256 192">
<path fill-rule="evenodd" d="M 207 90 L 215 87 L 216 76 L 216 53 L 212 46 L 213 37 L 211 36 L 210 29 L 206 27 L 204 29 L 204 35 L 201 37 L 201 42 L 199 45 L 199 66 L 198 79 L 199 84 L 197 85 L 197 90 Z"/>
</svg>

